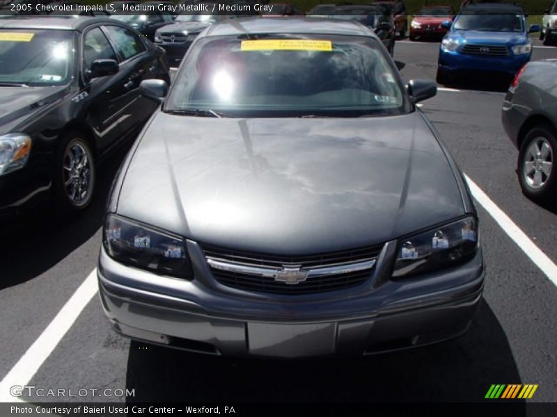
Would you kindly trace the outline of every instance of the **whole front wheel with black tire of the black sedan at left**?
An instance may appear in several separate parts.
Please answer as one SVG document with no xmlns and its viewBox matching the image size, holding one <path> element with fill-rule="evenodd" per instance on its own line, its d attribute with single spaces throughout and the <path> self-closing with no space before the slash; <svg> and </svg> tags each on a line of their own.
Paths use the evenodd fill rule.
<svg viewBox="0 0 557 417">
<path fill-rule="evenodd" d="M 56 152 L 53 175 L 56 206 L 63 213 L 84 211 L 95 194 L 95 156 L 82 133 L 66 133 Z"/>
</svg>

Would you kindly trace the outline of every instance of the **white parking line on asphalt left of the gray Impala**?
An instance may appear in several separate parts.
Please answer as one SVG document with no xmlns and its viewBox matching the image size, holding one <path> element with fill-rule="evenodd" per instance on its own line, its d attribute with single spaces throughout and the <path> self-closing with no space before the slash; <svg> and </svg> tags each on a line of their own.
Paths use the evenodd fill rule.
<svg viewBox="0 0 557 417">
<path fill-rule="evenodd" d="M 95 293 L 97 293 L 96 269 L 81 283 L 70 300 L 58 311 L 56 317 L 33 345 L 17 361 L 10 372 L 3 377 L 0 382 L 0 402 L 13 402 L 15 400 L 10 395 L 11 386 L 29 384 L 33 375 L 37 373 L 42 363 L 48 359 Z"/>
</svg>

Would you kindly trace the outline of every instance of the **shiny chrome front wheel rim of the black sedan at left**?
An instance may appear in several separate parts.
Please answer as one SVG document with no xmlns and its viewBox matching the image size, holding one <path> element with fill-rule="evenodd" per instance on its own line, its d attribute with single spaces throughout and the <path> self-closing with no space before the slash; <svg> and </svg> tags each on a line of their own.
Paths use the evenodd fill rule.
<svg viewBox="0 0 557 417">
<path fill-rule="evenodd" d="M 88 203 L 93 190 L 91 154 L 81 141 L 73 140 L 63 158 L 63 188 L 70 203 L 76 207 Z"/>
</svg>

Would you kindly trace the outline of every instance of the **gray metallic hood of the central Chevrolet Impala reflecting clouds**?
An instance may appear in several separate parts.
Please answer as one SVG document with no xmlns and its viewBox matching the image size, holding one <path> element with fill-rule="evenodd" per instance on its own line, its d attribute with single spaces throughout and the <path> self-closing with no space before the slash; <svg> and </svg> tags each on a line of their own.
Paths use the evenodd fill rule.
<svg viewBox="0 0 557 417">
<path fill-rule="evenodd" d="M 462 215 L 454 175 L 418 113 L 250 120 L 158 113 L 117 211 L 201 243 L 318 253 Z"/>
</svg>

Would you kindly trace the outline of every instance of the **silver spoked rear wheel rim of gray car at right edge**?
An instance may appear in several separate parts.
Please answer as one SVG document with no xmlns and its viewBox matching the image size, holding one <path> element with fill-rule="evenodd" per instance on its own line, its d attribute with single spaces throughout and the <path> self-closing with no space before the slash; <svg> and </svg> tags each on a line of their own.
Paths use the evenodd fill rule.
<svg viewBox="0 0 557 417">
<path fill-rule="evenodd" d="M 534 138 L 524 154 L 524 179 L 529 187 L 539 190 L 551 176 L 553 152 L 546 138 Z"/>
</svg>

